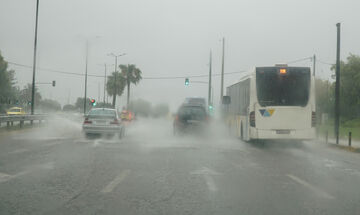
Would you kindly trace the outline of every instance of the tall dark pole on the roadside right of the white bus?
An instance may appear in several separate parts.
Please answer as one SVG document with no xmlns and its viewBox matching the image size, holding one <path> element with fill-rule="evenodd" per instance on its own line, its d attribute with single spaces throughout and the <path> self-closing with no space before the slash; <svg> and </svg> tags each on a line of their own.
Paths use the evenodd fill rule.
<svg viewBox="0 0 360 215">
<path fill-rule="evenodd" d="M 335 82 L 335 136 L 336 144 L 339 144 L 339 126 L 340 126 L 340 23 L 336 24 L 336 82 Z"/>
</svg>

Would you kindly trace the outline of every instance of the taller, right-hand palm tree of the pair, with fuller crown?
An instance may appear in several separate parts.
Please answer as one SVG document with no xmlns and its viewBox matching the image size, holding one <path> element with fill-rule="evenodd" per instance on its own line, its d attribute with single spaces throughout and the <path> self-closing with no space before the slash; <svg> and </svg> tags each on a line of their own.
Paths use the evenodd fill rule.
<svg viewBox="0 0 360 215">
<path fill-rule="evenodd" d="M 136 68 L 134 64 L 120 65 L 121 75 L 126 80 L 127 86 L 127 107 L 130 100 L 130 84 L 137 84 L 141 80 L 141 70 Z"/>
</svg>

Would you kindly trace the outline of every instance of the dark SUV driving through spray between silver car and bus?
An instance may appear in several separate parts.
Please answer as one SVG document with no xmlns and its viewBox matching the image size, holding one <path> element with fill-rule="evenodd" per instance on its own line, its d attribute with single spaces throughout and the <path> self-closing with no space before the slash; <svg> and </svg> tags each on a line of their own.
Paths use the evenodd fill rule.
<svg viewBox="0 0 360 215">
<path fill-rule="evenodd" d="M 208 124 L 208 115 L 202 105 L 183 104 L 174 120 L 174 135 L 201 132 Z"/>
</svg>

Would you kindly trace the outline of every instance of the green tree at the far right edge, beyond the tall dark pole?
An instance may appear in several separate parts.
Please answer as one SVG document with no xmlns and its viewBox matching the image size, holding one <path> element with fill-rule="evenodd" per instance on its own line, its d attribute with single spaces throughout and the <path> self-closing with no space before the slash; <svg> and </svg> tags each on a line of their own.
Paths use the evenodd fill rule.
<svg viewBox="0 0 360 215">
<path fill-rule="evenodd" d="M 335 71 L 335 66 L 331 68 Z M 360 116 L 360 56 L 350 54 L 340 62 L 340 113 L 344 119 Z"/>
</svg>

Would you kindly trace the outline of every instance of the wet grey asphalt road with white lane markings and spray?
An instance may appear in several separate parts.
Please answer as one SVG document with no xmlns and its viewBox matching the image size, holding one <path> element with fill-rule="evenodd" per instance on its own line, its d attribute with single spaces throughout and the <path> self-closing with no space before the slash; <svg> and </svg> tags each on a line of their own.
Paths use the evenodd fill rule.
<svg viewBox="0 0 360 215">
<path fill-rule="evenodd" d="M 0 214 L 360 214 L 358 153 L 171 125 L 138 120 L 121 140 L 60 118 L 1 133 Z"/>
</svg>

